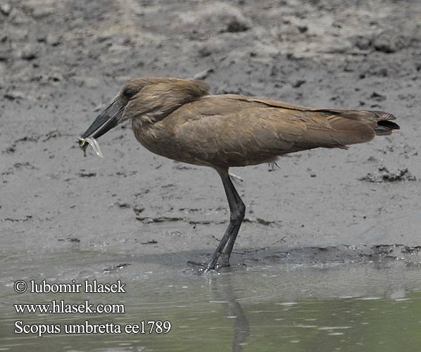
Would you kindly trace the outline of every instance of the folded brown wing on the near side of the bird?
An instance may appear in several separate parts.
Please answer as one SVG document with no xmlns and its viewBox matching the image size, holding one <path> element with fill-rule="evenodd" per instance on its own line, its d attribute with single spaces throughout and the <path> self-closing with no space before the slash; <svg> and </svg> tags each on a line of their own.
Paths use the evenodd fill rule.
<svg viewBox="0 0 421 352">
<path fill-rule="evenodd" d="M 177 115 L 183 121 L 177 123 L 175 134 L 186 147 L 191 144 L 244 156 L 275 156 L 316 147 L 345 149 L 375 136 L 364 122 L 335 111 L 237 97 L 208 97 L 182 107 Z"/>
</svg>

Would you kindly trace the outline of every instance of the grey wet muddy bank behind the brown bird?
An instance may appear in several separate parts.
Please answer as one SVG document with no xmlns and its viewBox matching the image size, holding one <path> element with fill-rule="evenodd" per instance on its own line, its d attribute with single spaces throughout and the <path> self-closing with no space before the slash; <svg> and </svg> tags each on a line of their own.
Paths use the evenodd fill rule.
<svg viewBox="0 0 421 352">
<path fill-rule="evenodd" d="M 234 265 L 271 246 L 355 246 L 364 256 L 382 244 L 420 245 L 419 1 L 9 5 L 0 12 L 1 253 L 171 262 L 170 253 L 203 260 L 213 251 L 229 217 L 213 170 L 154 156 L 130 126 L 101 139 L 104 159 L 77 148 L 102 104 L 142 75 L 398 117 L 396 134 L 349 151 L 232 170 L 244 179 L 236 187 L 247 207 Z"/>
</svg>

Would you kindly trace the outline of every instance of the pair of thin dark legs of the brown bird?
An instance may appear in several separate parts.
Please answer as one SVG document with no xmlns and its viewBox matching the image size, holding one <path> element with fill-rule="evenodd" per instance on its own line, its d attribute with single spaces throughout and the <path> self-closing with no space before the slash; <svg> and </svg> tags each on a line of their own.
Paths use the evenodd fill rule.
<svg viewBox="0 0 421 352">
<path fill-rule="evenodd" d="M 206 266 L 205 272 L 211 269 L 215 269 L 215 266 L 218 263 L 218 258 L 220 257 L 225 246 L 227 245 L 228 240 L 229 242 L 227 245 L 227 249 L 223 254 L 224 260 L 221 263 L 221 265 L 219 265 L 219 268 L 230 265 L 232 247 L 234 246 L 235 239 L 237 238 L 241 222 L 244 219 L 244 213 L 246 213 L 246 206 L 244 206 L 244 203 L 243 201 L 241 201 L 241 198 L 237 193 L 234 184 L 232 184 L 230 175 L 228 175 L 228 170 L 225 169 L 217 171 L 221 177 L 222 184 L 224 185 L 225 194 L 227 195 L 228 199 L 228 205 L 230 206 L 230 225 L 228 225 L 224 236 L 220 240 L 217 249 L 213 253 L 211 261 Z"/>
</svg>

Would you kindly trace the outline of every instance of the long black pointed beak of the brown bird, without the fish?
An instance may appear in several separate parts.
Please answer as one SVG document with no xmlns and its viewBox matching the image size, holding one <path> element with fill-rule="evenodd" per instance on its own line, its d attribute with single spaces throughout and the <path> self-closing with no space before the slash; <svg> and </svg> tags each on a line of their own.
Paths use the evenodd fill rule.
<svg viewBox="0 0 421 352">
<path fill-rule="evenodd" d="M 92 122 L 92 125 L 81 134 L 79 144 L 84 144 L 83 139 L 87 137 L 99 138 L 113 127 L 118 125 L 125 108 L 125 101 L 116 98 L 111 104 Z"/>
</svg>

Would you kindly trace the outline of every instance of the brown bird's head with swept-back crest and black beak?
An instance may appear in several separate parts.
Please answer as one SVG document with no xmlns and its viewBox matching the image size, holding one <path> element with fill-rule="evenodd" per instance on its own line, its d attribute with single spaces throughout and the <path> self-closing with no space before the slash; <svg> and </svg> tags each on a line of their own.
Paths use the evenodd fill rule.
<svg viewBox="0 0 421 352">
<path fill-rule="evenodd" d="M 107 108 L 98 115 L 79 138 L 97 139 L 128 119 L 139 119 L 141 125 L 162 120 L 185 103 L 208 94 L 209 86 L 199 80 L 177 78 L 135 78 L 125 84 Z"/>
</svg>

